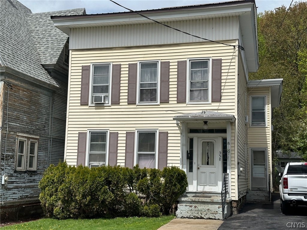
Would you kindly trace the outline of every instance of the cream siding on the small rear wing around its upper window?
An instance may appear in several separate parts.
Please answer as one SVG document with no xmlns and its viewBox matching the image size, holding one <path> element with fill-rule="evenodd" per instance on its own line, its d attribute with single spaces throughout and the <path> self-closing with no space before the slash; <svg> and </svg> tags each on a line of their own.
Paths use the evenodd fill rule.
<svg viewBox="0 0 307 230">
<path fill-rule="evenodd" d="M 272 108 L 271 108 L 271 88 L 270 87 L 264 87 L 264 88 L 249 88 L 248 89 L 248 116 L 249 119 L 251 119 L 250 114 L 250 96 L 266 96 L 266 127 L 257 127 L 257 126 L 250 126 L 248 128 L 248 147 L 249 148 L 267 148 L 267 154 L 268 154 L 268 174 L 270 174 L 270 177 L 272 178 L 272 143 L 271 143 L 271 114 L 272 114 Z M 250 124 L 250 123 L 249 123 Z M 251 153 L 249 153 L 250 155 Z M 271 188 L 272 188 L 272 179 L 271 181 Z"/>
</svg>

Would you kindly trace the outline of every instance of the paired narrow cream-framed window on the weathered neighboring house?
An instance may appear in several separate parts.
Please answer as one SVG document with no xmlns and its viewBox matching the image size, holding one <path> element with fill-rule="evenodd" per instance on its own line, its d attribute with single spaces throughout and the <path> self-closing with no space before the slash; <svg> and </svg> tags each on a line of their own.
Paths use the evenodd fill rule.
<svg viewBox="0 0 307 230">
<path fill-rule="evenodd" d="M 38 141 L 17 138 L 16 171 L 36 171 Z"/>
</svg>

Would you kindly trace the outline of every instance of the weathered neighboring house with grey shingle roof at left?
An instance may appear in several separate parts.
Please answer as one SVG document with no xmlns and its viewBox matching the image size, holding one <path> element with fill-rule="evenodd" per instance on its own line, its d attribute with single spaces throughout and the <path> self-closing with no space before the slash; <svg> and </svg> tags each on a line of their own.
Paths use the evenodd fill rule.
<svg viewBox="0 0 307 230">
<path fill-rule="evenodd" d="M 37 211 L 39 180 L 50 164 L 64 160 L 68 35 L 50 16 L 85 9 L 32 13 L 16 0 L 1 0 L 0 10 L 3 221 Z"/>
</svg>

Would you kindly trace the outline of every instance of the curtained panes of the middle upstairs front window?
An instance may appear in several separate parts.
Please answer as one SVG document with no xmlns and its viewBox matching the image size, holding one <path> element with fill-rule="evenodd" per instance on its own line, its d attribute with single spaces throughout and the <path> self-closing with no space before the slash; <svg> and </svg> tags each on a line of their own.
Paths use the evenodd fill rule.
<svg viewBox="0 0 307 230">
<path fill-rule="evenodd" d="M 157 101 L 157 62 L 141 63 L 140 102 Z"/>
</svg>

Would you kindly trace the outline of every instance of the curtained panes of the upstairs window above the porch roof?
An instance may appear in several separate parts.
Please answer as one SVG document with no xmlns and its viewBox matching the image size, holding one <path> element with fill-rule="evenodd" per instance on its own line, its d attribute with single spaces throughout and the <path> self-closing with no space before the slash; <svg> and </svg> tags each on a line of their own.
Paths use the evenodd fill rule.
<svg viewBox="0 0 307 230">
<path fill-rule="evenodd" d="M 208 61 L 190 62 L 190 101 L 208 101 Z"/>
</svg>

